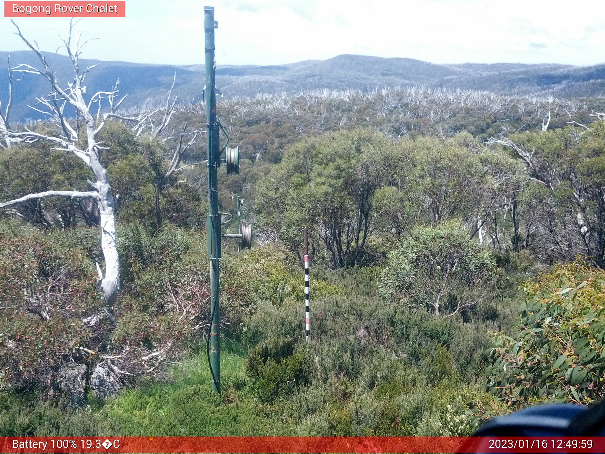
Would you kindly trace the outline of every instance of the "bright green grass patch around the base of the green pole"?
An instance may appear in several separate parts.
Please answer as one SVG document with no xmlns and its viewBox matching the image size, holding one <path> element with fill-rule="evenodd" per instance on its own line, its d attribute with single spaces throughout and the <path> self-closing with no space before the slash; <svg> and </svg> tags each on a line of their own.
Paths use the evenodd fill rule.
<svg viewBox="0 0 605 454">
<path fill-rule="evenodd" d="M 123 433 L 140 436 L 288 435 L 276 407 L 258 401 L 244 373 L 243 358 L 221 355 L 221 395 L 212 392 L 206 356 L 175 366 L 171 383 L 128 390 L 108 403 L 108 418 Z"/>
</svg>

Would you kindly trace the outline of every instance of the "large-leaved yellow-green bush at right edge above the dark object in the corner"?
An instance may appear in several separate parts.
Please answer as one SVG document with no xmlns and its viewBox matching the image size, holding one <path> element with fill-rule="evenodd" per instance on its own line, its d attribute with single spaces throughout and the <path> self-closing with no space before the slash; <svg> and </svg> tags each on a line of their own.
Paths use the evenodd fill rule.
<svg viewBox="0 0 605 454">
<path fill-rule="evenodd" d="M 557 265 L 523 286 L 510 334 L 497 334 L 487 389 L 507 404 L 591 403 L 603 397 L 605 271 Z"/>
</svg>

